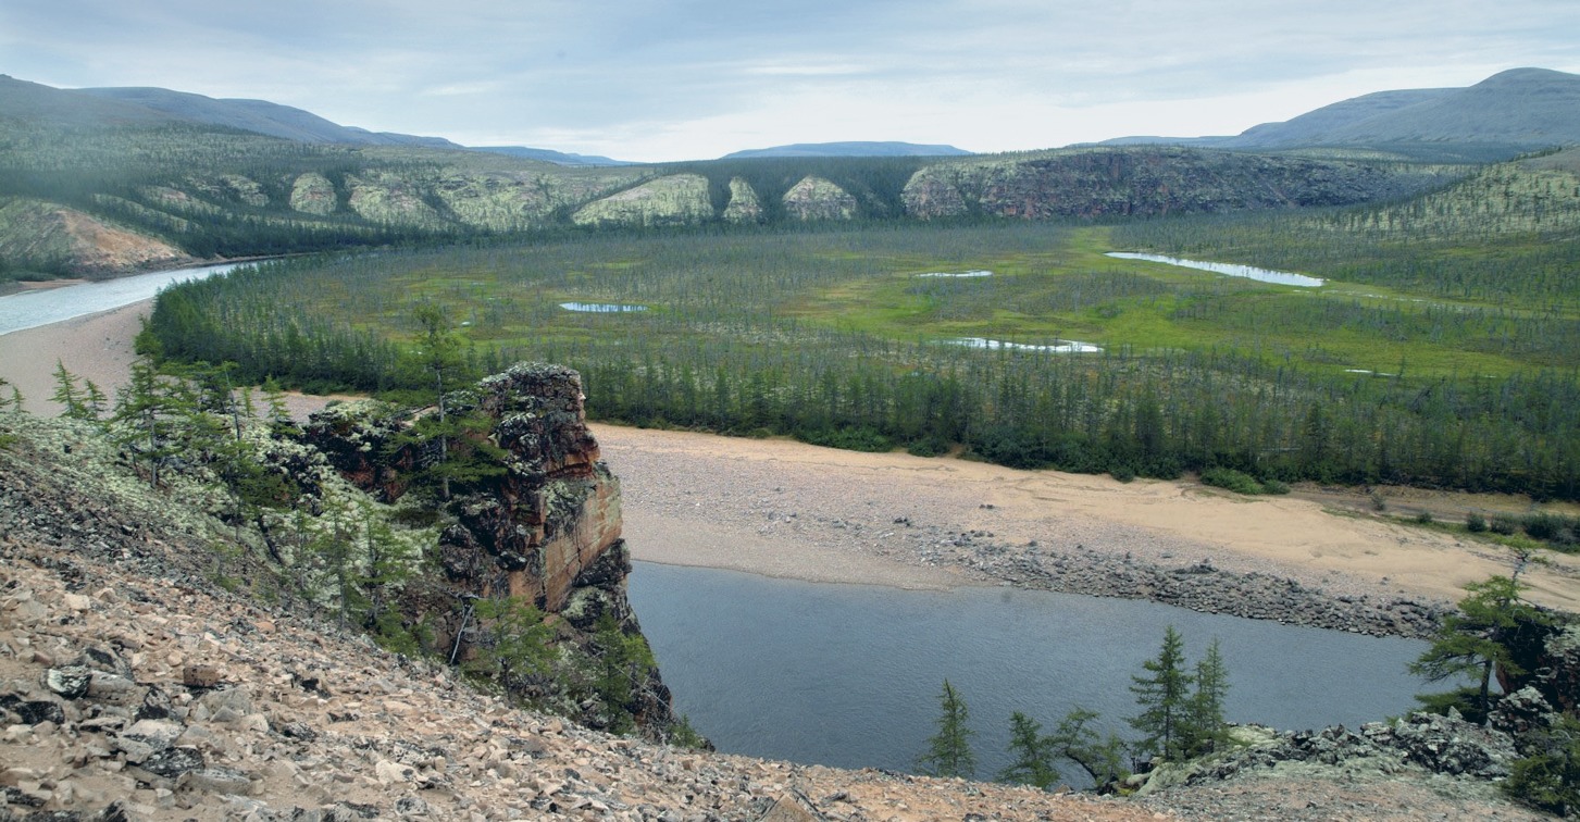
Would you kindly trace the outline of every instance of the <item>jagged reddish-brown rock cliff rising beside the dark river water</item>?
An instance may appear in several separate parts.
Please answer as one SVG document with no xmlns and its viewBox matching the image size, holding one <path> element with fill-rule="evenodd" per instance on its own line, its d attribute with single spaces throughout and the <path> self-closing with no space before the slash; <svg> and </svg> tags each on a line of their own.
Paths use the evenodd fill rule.
<svg viewBox="0 0 1580 822">
<path fill-rule="evenodd" d="M 626 598 L 630 553 L 621 539 L 619 479 L 600 460 L 585 400 L 577 371 L 518 364 L 444 397 L 446 414 L 463 422 L 442 443 L 409 436 L 416 419 L 436 409 L 371 402 L 314 414 L 303 441 L 381 501 L 434 517 L 431 571 L 400 596 L 401 620 L 420 628 L 433 650 L 463 666 L 490 659 L 502 688 L 589 727 L 619 729 L 630 719 L 662 740 L 675 724 L 670 692 L 651 656 L 643 658 L 646 642 Z M 446 460 L 466 468 L 446 474 L 444 493 L 412 481 Z M 510 635 L 501 602 L 544 615 L 548 631 L 531 628 L 559 659 L 536 659 L 539 670 L 534 661 L 506 659 L 499 648 L 520 637 Z M 610 653 L 634 656 L 623 661 L 629 694 L 567 683 L 566 666 L 604 666 Z"/>
</svg>

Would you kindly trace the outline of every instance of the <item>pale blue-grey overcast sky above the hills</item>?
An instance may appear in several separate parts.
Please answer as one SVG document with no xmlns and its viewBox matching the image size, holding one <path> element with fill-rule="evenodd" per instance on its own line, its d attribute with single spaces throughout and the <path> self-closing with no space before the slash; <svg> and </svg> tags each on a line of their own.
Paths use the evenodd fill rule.
<svg viewBox="0 0 1580 822">
<path fill-rule="evenodd" d="M 1237 134 L 1580 73 L 1577 0 L 0 0 L 0 73 L 621 160 Z"/>
</svg>

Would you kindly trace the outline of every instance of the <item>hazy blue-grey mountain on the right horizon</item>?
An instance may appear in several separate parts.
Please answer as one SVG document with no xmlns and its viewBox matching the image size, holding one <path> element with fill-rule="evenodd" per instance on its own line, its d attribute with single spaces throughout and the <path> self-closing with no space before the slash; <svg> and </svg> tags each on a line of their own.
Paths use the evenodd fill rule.
<svg viewBox="0 0 1580 822">
<path fill-rule="evenodd" d="M 1101 145 L 1210 149 L 1389 147 L 1401 144 L 1580 144 L 1580 74 L 1514 68 L 1468 89 L 1376 92 L 1281 123 L 1220 138 L 1117 138 Z"/>
</svg>

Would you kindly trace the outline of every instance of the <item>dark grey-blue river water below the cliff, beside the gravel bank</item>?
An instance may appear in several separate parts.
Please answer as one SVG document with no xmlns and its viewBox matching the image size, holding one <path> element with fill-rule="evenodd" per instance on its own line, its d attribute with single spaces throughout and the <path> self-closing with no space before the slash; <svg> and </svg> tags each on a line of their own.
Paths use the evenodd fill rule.
<svg viewBox="0 0 1580 822">
<path fill-rule="evenodd" d="M 976 732 L 978 775 L 1008 765 L 1010 715 L 1051 732 L 1081 705 L 1123 738 L 1130 677 L 1164 629 L 1194 664 L 1213 637 L 1228 719 L 1313 729 L 1401 715 L 1425 643 L 1196 613 L 1157 602 L 1014 588 L 905 591 L 635 563 L 630 602 L 675 708 L 720 751 L 915 770 L 943 680 Z M 1066 775 L 1073 776 L 1073 775 Z"/>
</svg>

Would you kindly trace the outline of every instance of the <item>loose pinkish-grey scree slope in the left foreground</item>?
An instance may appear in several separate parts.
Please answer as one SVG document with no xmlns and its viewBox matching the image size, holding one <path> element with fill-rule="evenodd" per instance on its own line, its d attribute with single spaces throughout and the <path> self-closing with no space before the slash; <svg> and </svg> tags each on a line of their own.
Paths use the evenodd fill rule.
<svg viewBox="0 0 1580 822">
<path fill-rule="evenodd" d="M 1035 789 L 653 745 L 215 585 L 81 428 L 0 449 L 0 819 L 1152 819 Z M 814 809 L 815 808 L 815 809 Z"/>
</svg>

